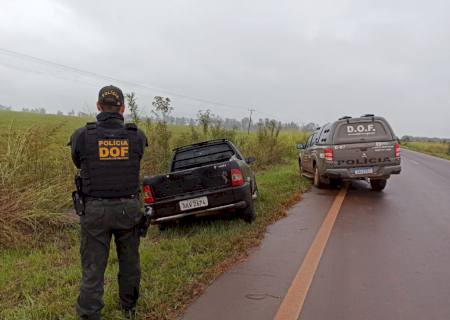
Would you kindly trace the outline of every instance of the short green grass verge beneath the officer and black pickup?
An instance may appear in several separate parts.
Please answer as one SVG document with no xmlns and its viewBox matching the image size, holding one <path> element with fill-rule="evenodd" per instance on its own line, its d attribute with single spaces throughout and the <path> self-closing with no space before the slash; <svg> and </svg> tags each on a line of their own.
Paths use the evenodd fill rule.
<svg viewBox="0 0 450 320">
<path fill-rule="evenodd" d="M 205 285 L 242 259 L 266 226 L 282 217 L 284 208 L 308 187 L 297 171 L 292 163 L 258 173 L 260 199 L 254 224 L 204 219 L 163 233 L 152 227 L 141 245 L 140 313 L 149 319 L 174 318 Z M 105 277 L 107 319 L 120 319 L 114 251 L 113 247 Z M 81 274 L 77 229 L 38 249 L 6 249 L 0 261 L 0 318 L 75 318 Z"/>
</svg>

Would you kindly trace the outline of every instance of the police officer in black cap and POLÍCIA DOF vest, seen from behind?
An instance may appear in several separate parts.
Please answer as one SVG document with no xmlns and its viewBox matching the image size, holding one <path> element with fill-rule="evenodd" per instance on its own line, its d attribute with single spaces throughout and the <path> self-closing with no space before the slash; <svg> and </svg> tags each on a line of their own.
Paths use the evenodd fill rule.
<svg viewBox="0 0 450 320">
<path fill-rule="evenodd" d="M 97 122 L 72 135 L 72 159 L 80 170 L 84 212 L 81 224 L 82 280 L 76 310 L 80 319 L 101 319 L 104 273 L 111 237 L 119 260 L 119 297 L 127 318 L 136 316 L 139 297 L 140 161 L 147 146 L 144 133 L 124 124 L 122 91 L 99 92 Z"/>
</svg>

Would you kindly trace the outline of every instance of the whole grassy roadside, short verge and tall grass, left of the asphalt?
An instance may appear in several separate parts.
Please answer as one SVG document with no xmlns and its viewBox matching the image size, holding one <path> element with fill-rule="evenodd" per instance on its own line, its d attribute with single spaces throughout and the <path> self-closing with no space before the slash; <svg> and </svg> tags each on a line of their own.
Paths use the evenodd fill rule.
<svg viewBox="0 0 450 320">
<path fill-rule="evenodd" d="M 70 210 L 75 173 L 66 143 L 89 120 L 0 112 L 0 319 L 75 318 L 79 226 L 61 212 Z M 169 130 L 169 147 L 205 138 L 192 138 L 188 127 Z M 164 153 L 151 131 L 149 137 L 143 174 L 164 170 L 152 166 Z M 298 176 L 294 161 L 295 144 L 305 137 L 295 131 L 275 137 L 270 129 L 233 133 L 244 154 L 258 158 L 257 220 L 248 225 L 239 219 L 203 219 L 163 233 L 152 227 L 141 245 L 142 316 L 173 319 L 205 285 L 259 243 L 267 225 L 282 217 L 309 186 Z M 120 319 L 114 250 L 112 246 L 105 278 L 107 319 Z"/>
</svg>

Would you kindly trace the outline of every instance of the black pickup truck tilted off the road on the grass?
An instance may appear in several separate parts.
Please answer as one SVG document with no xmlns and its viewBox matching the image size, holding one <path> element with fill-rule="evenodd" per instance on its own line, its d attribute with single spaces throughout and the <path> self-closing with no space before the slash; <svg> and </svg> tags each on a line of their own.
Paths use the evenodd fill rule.
<svg viewBox="0 0 450 320">
<path fill-rule="evenodd" d="M 255 219 L 255 174 L 228 140 L 211 140 L 174 149 L 170 172 L 144 177 L 144 208 L 152 224 L 233 210 L 244 221 Z"/>
</svg>

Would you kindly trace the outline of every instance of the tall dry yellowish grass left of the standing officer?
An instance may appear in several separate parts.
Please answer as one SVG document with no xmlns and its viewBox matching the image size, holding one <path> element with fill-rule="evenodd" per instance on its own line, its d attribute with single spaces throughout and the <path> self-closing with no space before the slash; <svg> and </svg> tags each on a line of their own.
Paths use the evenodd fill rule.
<svg viewBox="0 0 450 320">
<path fill-rule="evenodd" d="M 74 174 L 67 148 L 51 143 L 64 125 L 16 130 L 0 146 L 0 246 L 37 243 L 68 224 L 68 176 Z"/>
</svg>

